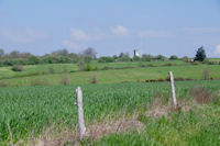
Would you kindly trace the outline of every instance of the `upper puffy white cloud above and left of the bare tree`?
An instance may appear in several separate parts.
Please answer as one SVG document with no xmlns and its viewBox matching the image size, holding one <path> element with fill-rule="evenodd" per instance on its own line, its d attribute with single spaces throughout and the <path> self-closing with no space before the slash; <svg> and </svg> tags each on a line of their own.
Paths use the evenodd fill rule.
<svg viewBox="0 0 220 146">
<path fill-rule="evenodd" d="M 90 41 L 91 37 L 79 29 L 70 29 L 70 36 L 78 41 Z"/>
</svg>

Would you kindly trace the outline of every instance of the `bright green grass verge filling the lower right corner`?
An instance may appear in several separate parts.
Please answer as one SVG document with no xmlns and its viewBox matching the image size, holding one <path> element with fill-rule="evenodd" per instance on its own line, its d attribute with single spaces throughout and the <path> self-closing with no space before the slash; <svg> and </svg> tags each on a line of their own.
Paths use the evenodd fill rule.
<svg viewBox="0 0 220 146">
<path fill-rule="evenodd" d="M 118 133 L 102 137 L 95 145 L 220 145 L 220 108 L 201 105 L 190 112 L 169 113 L 160 119 L 141 115 L 142 132 Z M 90 144 L 85 141 L 84 145 Z"/>
</svg>

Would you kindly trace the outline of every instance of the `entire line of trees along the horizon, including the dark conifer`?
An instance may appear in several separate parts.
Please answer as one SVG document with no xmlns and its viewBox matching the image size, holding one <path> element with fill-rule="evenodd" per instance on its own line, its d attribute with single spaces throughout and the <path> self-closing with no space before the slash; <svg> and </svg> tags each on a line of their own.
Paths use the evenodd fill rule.
<svg viewBox="0 0 220 146">
<path fill-rule="evenodd" d="M 198 48 L 195 60 L 202 61 L 206 58 L 206 53 L 202 47 Z M 168 59 L 183 59 L 189 60 L 187 56 L 178 58 L 176 55 L 172 55 L 169 58 L 163 55 L 148 55 L 143 54 L 141 57 L 130 57 L 128 53 L 121 53 L 118 56 L 102 56 L 97 58 L 97 53 L 94 48 L 89 47 L 80 54 L 69 53 L 67 49 L 58 49 L 51 54 L 43 56 L 35 56 L 30 53 L 21 53 L 13 50 L 6 54 L 3 49 L 0 49 L 0 66 L 13 66 L 13 65 L 36 65 L 36 64 L 70 64 L 70 63 L 90 63 L 91 60 L 98 60 L 99 63 L 113 63 L 113 61 L 154 61 L 154 60 L 168 60 Z"/>
</svg>

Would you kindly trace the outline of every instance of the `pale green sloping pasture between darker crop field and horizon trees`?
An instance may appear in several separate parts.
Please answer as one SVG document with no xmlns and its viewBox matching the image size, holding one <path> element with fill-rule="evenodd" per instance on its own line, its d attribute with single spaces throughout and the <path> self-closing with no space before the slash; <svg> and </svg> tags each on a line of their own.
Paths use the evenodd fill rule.
<svg viewBox="0 0 220 146">
<path fill-rule="evenodd" d="M 140 64 L 145 66 L 141 67 Z M 153 66 L 146 66 L 148 64 Z M 175 78 L 204 79 L 202 71 L 206 68 L 209 70 L 210 77 L 213 79 L 220 78 L 219 65 L 190 65 L 180 60 L 112 64 L 92 63 L 91 66 L 98 66 L 100 70 L 80 71 L 76 64 L 59 64 L 26 66 L 22 72 L 14 72 L 10 70 L 10 68 L 1 68 L 1 70 L 4 71 L 1 71 L 0 75 L 2 80 L 9 87 L 32 86 L 35 80 L 42 81 L 42 86 L 61 85 L 64 72 L 68 74 L 70 85 L 87 85 L 90 82 L 92 76 L 97 77 L 98 83 L 120 83 L 145 81 L 148 79 L 165 79 L 168 76 L 168 71 L 173 71 Z M 105 66 L 109 67 L 109 69 L 101 69 Z M 52 74 L 48 74 L 48 68 L 53 68 Z"/>
</svg>

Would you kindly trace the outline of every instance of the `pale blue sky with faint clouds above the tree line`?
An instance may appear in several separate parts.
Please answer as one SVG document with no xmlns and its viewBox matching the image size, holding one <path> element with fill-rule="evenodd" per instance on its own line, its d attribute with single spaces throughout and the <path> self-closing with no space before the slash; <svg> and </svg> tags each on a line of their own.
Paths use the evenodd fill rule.
<svg viewBox="0 0 220 146">
<path fill-rule="evenodd" d="M 220 57 L 220 0 L 0 0 L 0 48 Z"/>
</svg>

